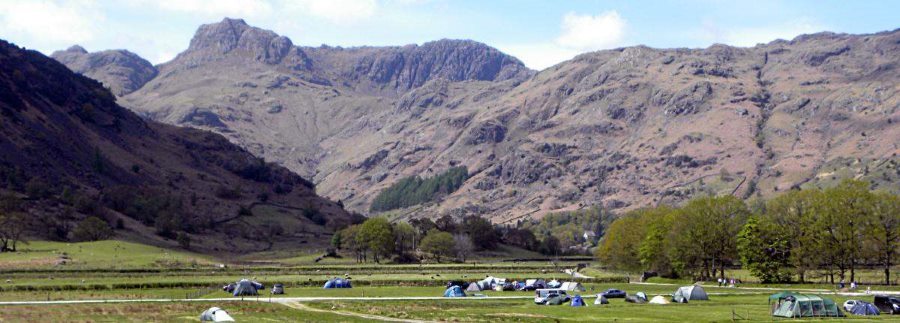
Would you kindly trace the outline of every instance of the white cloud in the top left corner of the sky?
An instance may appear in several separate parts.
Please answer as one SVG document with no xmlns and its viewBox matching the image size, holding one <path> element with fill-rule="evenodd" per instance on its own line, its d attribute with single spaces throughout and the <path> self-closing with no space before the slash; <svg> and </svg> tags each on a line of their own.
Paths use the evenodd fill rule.
<svg viewBox="0 0 900 323">
<path fill-rule="evenodd" d="M 92 1 L 0 1 L 3 37 L 24 38 L 45 52 L 92 40 L 102 20 Z"/>
</svg>

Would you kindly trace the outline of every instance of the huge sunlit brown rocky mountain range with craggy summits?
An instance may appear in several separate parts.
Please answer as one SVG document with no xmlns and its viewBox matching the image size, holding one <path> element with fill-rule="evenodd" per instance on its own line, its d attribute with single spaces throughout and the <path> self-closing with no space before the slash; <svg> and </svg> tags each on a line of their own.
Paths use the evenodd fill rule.
<svg viewBox="0 0 900 323">
<path fill-rule="evenodd" d="M 221 133 L 357 211 L 405 177 L 467 167 L 460 189 L 401 216 L 514 222 L 848 177 L 900 189 L 898 30 L 636 46 L 540 72 L 471 41 L 290 44 L 242 20 L 204 25 L 120 102 Z"/>
</svg>

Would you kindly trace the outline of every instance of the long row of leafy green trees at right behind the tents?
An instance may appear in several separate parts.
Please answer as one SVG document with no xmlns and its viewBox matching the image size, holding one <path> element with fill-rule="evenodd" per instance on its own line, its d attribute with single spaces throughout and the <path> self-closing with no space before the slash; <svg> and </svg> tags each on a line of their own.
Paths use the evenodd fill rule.
<svg viewBox="0 0 900 323">
<path fill-rule="evenodd" d="M 705 196 L 631 211 L 610 225 L 595 254 L 612 268 L 699 280 L 725 278 L 726 268 L 741 265 L 763 282 L 804 282 L 824 271 L 833 283 L 877 265 L 890 283 L 898 245 L 900 198 L 848 180 L 752 208 L 733 196 Z"/>
</svg>

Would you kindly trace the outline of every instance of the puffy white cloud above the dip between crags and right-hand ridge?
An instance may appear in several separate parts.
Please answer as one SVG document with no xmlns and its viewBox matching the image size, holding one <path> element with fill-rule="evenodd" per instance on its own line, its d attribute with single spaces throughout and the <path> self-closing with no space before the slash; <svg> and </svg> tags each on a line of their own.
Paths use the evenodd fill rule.
<svg viewBox="0 0 900 323">
<path fill-rule="evenodd" d="M 625 20 L 615 10 L 596 16 L 568 13 L 563 17 L 560 46 L 580 51 L 609 49 L 621 44 Z"/>
</svg>

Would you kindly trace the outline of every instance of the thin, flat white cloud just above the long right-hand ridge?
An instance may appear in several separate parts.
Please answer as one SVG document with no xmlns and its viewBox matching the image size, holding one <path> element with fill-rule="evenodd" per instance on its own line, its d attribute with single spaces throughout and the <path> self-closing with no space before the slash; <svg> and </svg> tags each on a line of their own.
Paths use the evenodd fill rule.
<svg viewBox="0 0 900 323">
<path fill-rule="evenodd" d="M 800 18 L 782 24 L 761 27 L 722 29 L 706 22 L 700 32 L 701 38 L 708 43 L 722 43 L 732 46 L 750 47 L 760 43 L 768 43 L 776 39 L 790 40 L 802 34 L 828 30 L 826 26 L 810 19 Z"/>
</svg>

